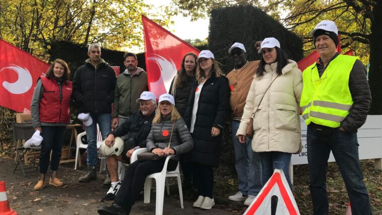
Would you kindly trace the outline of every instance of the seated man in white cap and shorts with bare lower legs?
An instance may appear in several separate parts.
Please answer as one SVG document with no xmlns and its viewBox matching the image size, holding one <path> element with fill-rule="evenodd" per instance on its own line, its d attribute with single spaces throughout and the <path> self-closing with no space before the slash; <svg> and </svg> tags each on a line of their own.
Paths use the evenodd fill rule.
<svg viewBox="0 0 382 215">
<path fill-rule="evenodd" d="M 112 155 L 106 158 L 111 187 L 102 198 L 103 200 L 113 200 L 121 185 L 118 178 L 118 160 L 123 163 L 130 163 L 130 157 L 134 150 L 146 147 L 146 139 L 155 117 L 156 96 L 152 92 L 144 91 L 141 97 L 137 99 L 137 103 L 140 104 L 140 110 L 110 132 L 105 139 L 105 144 L 112 146 L 115 137 L 127 135 L 122 153 L 119 156 Z"/>
</svg>

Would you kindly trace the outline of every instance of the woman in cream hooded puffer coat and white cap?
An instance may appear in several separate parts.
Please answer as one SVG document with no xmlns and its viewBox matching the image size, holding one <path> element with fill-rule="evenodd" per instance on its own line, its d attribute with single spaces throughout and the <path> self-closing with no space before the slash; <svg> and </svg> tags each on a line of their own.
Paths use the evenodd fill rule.
<svg viewBox="0 0 382 215">
<path fill-rule="evenodd" d="M 302 73 L 287 60 L 277 39 L 265 38 L 259 70 L 253 77 L 236 136 L 245 142 L 245 130 L 253 116 L 252 149 L 260 152 L 262 181 L 266 184 L 275 168 L 282 169 L 290 188 L 289 163 L 301 150 L 299 103 Z M 263 98 L 264 96 L 264 98 Z"/>
</svg>

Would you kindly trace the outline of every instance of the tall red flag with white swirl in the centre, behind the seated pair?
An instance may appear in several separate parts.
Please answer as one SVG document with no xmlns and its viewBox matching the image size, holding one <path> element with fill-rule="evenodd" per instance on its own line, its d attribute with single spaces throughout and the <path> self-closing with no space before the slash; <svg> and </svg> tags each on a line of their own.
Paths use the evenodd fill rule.
<svg viewBox="0 0 382 215">
<path fill-rule="evenodd" d="M 142 16 L 142 22 L 149 89 L 158 98 L 169 91 L 171 81 L 181 67 L 183 56 L 187 52 L 199 55 L 200 50 L 145 16 Z"/>
</svg>

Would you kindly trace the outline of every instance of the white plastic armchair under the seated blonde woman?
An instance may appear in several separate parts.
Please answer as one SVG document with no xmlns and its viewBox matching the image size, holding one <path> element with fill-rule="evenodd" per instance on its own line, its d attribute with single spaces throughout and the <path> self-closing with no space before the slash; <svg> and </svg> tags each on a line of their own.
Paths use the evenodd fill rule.
<svg viewBox="0 0 382 215">
<path fill-rule="evenodd" d="M 135 162 L 138 157 L 137 155 L 146 152 L 146 148 L 140 148 L 138 150 L 135 150 L 131 163 Z M 151 194 L 151 179 L 155 179 L 156 182 L 156 199 L 155 199 L 155 214 L 156 215 L 162 215 L 163 214 L 163 200 L 164 200 L 164 186 L 166 184 L 167 187 L 167 194 L 170 195 L 170 189 L 168 185 L 168 181 L 166 180 L 167 177 L 176 177 L 178 182 L 178 189 L 179 189 L 179 198 L 180 198 L 180 207 L 183 209 L 183 193 L 182 193 L 182 184 L 180 182 L 180 173 L 179 173 L 179 162 L 176 166 L 176 169 L 171 172 L 167 172 L 167 164 L 171 157 L 174 155 L 169 155 L 166 157 L 166 161 L 164 163 L 163 169 L 159 173 L 154 173 L 146 177 L 145 181 L 145 196 L 144 196 L 144 203 L 150 203 L 150 194 Z"/>
</svg>

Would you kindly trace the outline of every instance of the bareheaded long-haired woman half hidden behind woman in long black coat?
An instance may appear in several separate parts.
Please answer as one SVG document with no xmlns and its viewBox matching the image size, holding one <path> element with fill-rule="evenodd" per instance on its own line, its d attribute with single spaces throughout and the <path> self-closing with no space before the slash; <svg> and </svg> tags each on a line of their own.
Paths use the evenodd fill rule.
<svg viewBox="0 0 382 215">
<path fill-rule="evenodd" d="M 193 52 L 184 55 L 178 74 L 171 82 L 169 93 L 175 98 L 175 108 L 180 116 L 184 116 L 187 108 L 190 91 L 195 85 L 196 61 L 198 56 Z M 184 155 L 180 157 L 180 168 L 183 173 L 183 189 L 189 189 L 192 186 L 195 177 L 193 176 L 193 165 L 185 162 Z"/>
</svg>

